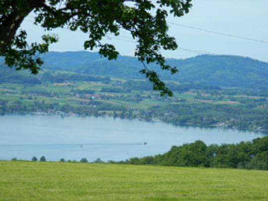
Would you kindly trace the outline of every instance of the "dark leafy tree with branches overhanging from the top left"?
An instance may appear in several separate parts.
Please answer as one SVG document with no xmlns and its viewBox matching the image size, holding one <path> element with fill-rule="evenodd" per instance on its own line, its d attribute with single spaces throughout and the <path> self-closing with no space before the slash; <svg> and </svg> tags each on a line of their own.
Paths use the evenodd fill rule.
<svg viewBox="0 0 268 201">
<path fill-rule="evenodd" d="M 134 2 L 128 6 L 126 1 Z M 27 33 L 18 31 L 21 23 L 30 12 L 36 14 L 35 24 L 46 30 L 68 27 L 71 31 L 81 30 L 89 35 L 84 48 L 93 50 L 110 59 L 116 59 L 118 52 L 112 44 L 103 44 L 101 39 L 107 33 L 118 36 L 120 29 L 128 31 L 137 41 L 135 56 L 143 64 L 140 73 L 145 74 L 161 95 L 172 92 L 159 79 L 154 70 L 146 64 L 156 63 L 161 69 L 172 74 L 175 66 L 165 63 L 160 50 L 175 50 L 177 44 L 170 37 L 166 17 L 175 17 L 189 12 L 192 0 L 0 0 L 0 56 L 5 63 L 17 70 L 29 69 L 38 73 L 43 61 L 37 56 L 48 51 L 51 43 L 58 41 L 55 35 L 43 35 L 43 43 L 27 44 Z M 167 11 L 168 10 L 168 11 Z"/>
</svg>

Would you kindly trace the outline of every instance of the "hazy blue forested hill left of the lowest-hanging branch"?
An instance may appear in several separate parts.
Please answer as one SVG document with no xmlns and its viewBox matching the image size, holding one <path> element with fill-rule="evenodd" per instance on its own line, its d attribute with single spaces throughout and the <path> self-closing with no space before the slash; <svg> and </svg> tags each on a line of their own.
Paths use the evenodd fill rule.
<svg viewBox="0 0 268 201">
<path fill-rule="evenodd" d="M 70 71 L 91 75 L 113 76 L 125 79 L 143 79 L 139 71 L 141 63 L 134 57 L 118 56 L 117 60 L 108 60 L 98 53 L 86 51 L 48 52 L 43 56 L 46 69 Z"/>
</svg>

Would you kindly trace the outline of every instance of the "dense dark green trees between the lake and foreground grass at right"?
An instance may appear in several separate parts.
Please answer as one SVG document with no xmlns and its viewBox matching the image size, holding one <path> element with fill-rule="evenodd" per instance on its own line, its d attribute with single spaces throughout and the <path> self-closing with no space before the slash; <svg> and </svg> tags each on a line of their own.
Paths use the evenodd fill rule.
<svg viewBox="0 0 268 201">
<path fill-rule="evenodd" d="M 212 144 L 198 140 L 173 146 L 163 155 L 131 158 L 119 163 L 182 167 L 216 167 L 268 170 L 268 136 L 239 144 Z"/>
</svg>

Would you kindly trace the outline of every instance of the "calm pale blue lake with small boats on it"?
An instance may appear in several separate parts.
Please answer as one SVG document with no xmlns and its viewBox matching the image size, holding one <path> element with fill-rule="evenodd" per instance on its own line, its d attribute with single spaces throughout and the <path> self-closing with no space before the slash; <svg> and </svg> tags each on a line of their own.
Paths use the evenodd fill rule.
<svg viewBox="0 0 268 201">
<path fill-rule="evenodd" d="M 162 154 L 173 145 L 198 139 L 206 144 L 221 144 L 262 136 L 254 132 L 175 127 L 138 120 L 10 115 L 0 117 L 0 159 L 31 160 L 33 156 L 44 155 L 50 161 L 60 158 L 119 161 Z"/>
</svg>

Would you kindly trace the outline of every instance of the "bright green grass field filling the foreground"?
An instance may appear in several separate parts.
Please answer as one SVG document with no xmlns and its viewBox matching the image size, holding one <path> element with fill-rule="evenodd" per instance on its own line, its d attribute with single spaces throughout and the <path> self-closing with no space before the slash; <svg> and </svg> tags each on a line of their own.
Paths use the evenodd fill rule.
<svg viewBox="0 0 268 201">
<path fill-rule="evenodd" d="M 268 171 L 0 161 L 0 200 L 268 201 Z"/>
</svg>

